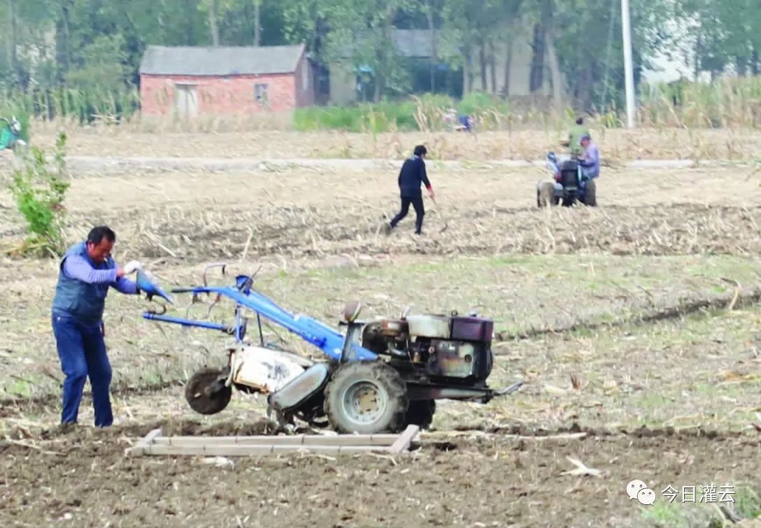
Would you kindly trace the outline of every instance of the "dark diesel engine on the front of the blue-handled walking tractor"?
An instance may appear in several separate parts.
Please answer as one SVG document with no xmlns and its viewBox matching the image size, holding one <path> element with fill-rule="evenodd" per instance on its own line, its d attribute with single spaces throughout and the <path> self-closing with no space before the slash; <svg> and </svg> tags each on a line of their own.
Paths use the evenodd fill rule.
<svg viewBox="0 0 761 528">
<path fill-rule="evenodd" d="M 458 315 L 409 315 L 373 321 L 362 344 L 389 355 L 406 375 L 448 384 L 479 385 L 492 371 L 494 323 Z"/>
</svg>

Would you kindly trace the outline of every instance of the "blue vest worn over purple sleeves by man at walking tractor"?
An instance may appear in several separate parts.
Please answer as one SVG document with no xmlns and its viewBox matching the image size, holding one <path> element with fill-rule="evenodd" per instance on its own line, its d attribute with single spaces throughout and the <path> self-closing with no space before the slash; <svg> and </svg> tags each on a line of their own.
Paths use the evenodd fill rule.
<svg viewBox="0 0 761 528">
<path fill-rule="evenodd" d="M 72 315 L 84 324 L 99 324 L 103 318 L 103 308 L 106 305 L 106 296 L 110 284 L 88 284 L 65 275 L 63 273 L 63 261 L 69 255 L 84 257 L 97 270 L 113 269 L 113 259 L 108 258 L 103 264 L 94 264 L 88 255 L 87 245 L 84 242 L 79 242 L 66 250 L 59 264 L 56 296 L 53 298 L 53 312 L 58 311 Z"/>
</svg>

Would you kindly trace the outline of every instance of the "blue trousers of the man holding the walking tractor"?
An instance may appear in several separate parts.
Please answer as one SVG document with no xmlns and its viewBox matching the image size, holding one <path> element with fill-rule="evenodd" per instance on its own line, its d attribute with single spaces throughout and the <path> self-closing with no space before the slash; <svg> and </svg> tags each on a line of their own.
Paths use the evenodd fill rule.
<svg viewBox="0 0 761 528">
<path fill-rule="evenodd" d="M 61 423 L 76 423 L 82 400 L 84 381 L 90 378 L 95 409 L 95 425 L 108 427 L 113 423 L 110 385 L 111 364 L 103 341 L 101 324 L 87 325 L 68 316 L 53 314 L 53 334 L 61 360 L 63 381 L 63 410 Z"/>
</svg>

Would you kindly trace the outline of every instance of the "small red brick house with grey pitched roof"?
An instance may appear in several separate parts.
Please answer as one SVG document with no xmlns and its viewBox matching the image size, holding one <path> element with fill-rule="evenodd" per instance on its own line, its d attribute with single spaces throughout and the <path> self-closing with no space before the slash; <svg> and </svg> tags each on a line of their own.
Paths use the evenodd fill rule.
<svg viewBox="0 0 761 528">
<path fill-rule="evenodd" d="M 143 115 L 281 112 L 314 104 L 314 68 L 298 46 L 148 46 Z"/>
</svg>

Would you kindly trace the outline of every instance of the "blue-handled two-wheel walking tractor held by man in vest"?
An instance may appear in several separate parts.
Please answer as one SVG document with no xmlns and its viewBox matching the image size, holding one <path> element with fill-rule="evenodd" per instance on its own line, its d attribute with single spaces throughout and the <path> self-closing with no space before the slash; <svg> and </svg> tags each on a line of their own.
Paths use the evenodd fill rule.
<svg viewBox="0 0 761 528">
<path fill-rule="evenodd" d="M 185 397 L 197 413 L 221 412 L 230 402 L 233 387 L 267 395 L 269 416 L 281 425 L 301 419 L 336 432 L 371 435 L 396 433 L 407 425 L 427 427 L 436 400 L 470 400 L 487 403 L 511 394 L 519 381 L 503 390 L 486 384 L 492 371 L 493 322 L 487 318 L 451 315 L 409 315 L 359 320 L 361 304 L 349 302 L 339 332 L 306 315 L 291 314 L 253 289 L 252 276 L 237 275 L 234 286 L 209 286 L 207 272 L 226 264 L 212 264 L 203 273 L 203 286 L 172 289 L 189 293 L 193 302 L 213 296 L 209 312 L 222 298 L 235 303 L 234 324 L 218 324 L 145 311 L 151 321 L 220 330 L 234 336 L 222 368 L 202 368 L 186 384 Z M 155 286 L 155 283 L 152 283 Z M 142 286 L 148 296 L 170 299 L 161 289 Z M 246 339 L 248 321 L 256 315 L 258 343 Z M 265 343 L 262 318 L 298 335 L 323 352 L 313 361 Z"/>
</svg>

